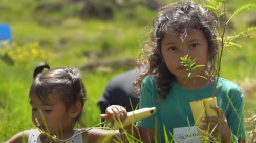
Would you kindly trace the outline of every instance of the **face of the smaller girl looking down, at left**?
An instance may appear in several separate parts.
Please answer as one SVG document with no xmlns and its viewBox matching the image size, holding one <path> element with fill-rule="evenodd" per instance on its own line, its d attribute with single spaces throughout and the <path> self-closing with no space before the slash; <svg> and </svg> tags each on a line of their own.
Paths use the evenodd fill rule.
<svg viewBox="0 0 256 143">
<path fill-rule="evenodd" d="M 47 132 L 48 127 L 51 135 L 61 135 L 67 130 L 72 131 L 73 118 L 70 117 L 69 111 L 66 110 L 65 104 L 59 94 L 51 93 L 48 98 L 49 104 L 45 104 L 37 95 L 33 94 L 31 96 L 30 104 L 32 106 L 32 121 L 34 125 L 45 132 Z M 46 124 L 43 121 L 40 111 L 44 116 Z M 40 126 L 37 124 L 36 119 Z"/>
</svg>

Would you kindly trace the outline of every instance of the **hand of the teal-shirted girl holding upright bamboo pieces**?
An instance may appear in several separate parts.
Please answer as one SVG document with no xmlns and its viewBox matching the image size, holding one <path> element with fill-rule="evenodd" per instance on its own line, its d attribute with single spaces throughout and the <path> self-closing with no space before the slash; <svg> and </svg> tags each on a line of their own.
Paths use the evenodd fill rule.
<svg viewBox="0 0 256 143">
<path fill-rule="evenodd" d="M 211 122 L 209 131 L 212 131 L 214 129 L 214 132 L 211 134 L 214 137 L 217 137 L 217 135 L 221 135 L 221 142 L 229 142 L 231 138 L 231 131 L 228 127 L 227 118 L 222 111 L 222 109 L 216 105 L 211 105 L 211 108 L 214 109 L 219 117 L 217 116 L 210 116 L 202 118 L 203 122 Z M 200 127 L 202 130 L 207 131 L 208 125 L 204 125 Z"/>
</svg>

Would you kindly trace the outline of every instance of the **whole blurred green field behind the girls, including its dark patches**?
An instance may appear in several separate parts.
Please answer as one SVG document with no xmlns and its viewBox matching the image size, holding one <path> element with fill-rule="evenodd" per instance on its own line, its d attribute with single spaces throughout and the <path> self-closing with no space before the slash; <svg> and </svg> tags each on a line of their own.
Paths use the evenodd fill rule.
<svg viewBox="0 0 256 143">
<path fill-rule="evenodd" d="M 11 26 L 13 44 L 0 46 L 0 142 L 33 127 L 28 93 L 34 67 L 46 60 L 52 68 L 82 70 L 88 95 L 82 126 L 99 123 L 96 104 L 105 85 L 115 75 L 135 67 L 157 10 L 172 2 L 1 0 L 0 22 Z M 249 3 L 255 4 L 255 0 L 227 0 L 227 15 Z M 234 16 L 229 34 L 255 26 L 255 13 L 253 8 Z M 256 36 L 255 31 L 248 34 Z M 221 76 L 240 84 L 249 118 L 256 113 L 256 41 L 241 37 L 236 42 L 243 48 L 224 50 Z"/>
</svg>

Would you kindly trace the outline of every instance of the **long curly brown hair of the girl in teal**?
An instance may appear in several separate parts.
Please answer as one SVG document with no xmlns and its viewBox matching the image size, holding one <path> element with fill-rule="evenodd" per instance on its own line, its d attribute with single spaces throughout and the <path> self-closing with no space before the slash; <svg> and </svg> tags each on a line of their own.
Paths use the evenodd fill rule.
<svg viewBox="0 0 256 143">
<path fill-rule="evenodd" d="M 143 78 L 150 75 L 156 80 L 158 98 L 164 100 L 169 93 L 170 83 L 175 81 L 175 76 L 162 61 L 160 53 L 164 35 L 170 30 L 175 31 L 181 38 L 186 37 L 189 28 L 203 31 L 208 42 L 206 73 L 209 77 L 214 77 L 217 73 L 216 60 L 218 59 L 216 27 L 217 21 L 214 14 L 194 2 L 174 3 L 161 8 L 153 21 L 151 39 L 144 43 L 139 56 L 139 66 L 146 64 L 146 68 L 143 66 L 145 69 L 134 82 L 137 92 L 140 91 Z M 144 56 L 147 58 L 146 62 Z"/>
</svg>

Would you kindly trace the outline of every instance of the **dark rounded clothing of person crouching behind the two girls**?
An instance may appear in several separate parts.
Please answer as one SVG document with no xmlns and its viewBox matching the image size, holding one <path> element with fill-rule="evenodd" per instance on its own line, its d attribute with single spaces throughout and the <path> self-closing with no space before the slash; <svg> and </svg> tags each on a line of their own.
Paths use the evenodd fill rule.
<svg viewBox="0 0 256 143">
<path fill-rule="evenodd" d="M 106 107 L 111 105 L 123 106 L 127 112 L 135 110 L 136 106 L 139 104 L 139 95 L 135 92 L 135 86 L 133 85 L 137 76 L 138 71 L 133 69 L 114 77 L 109 84 L 106 85 L 98 101 L 100 112 L 105 113 Z"/>
</svg>

